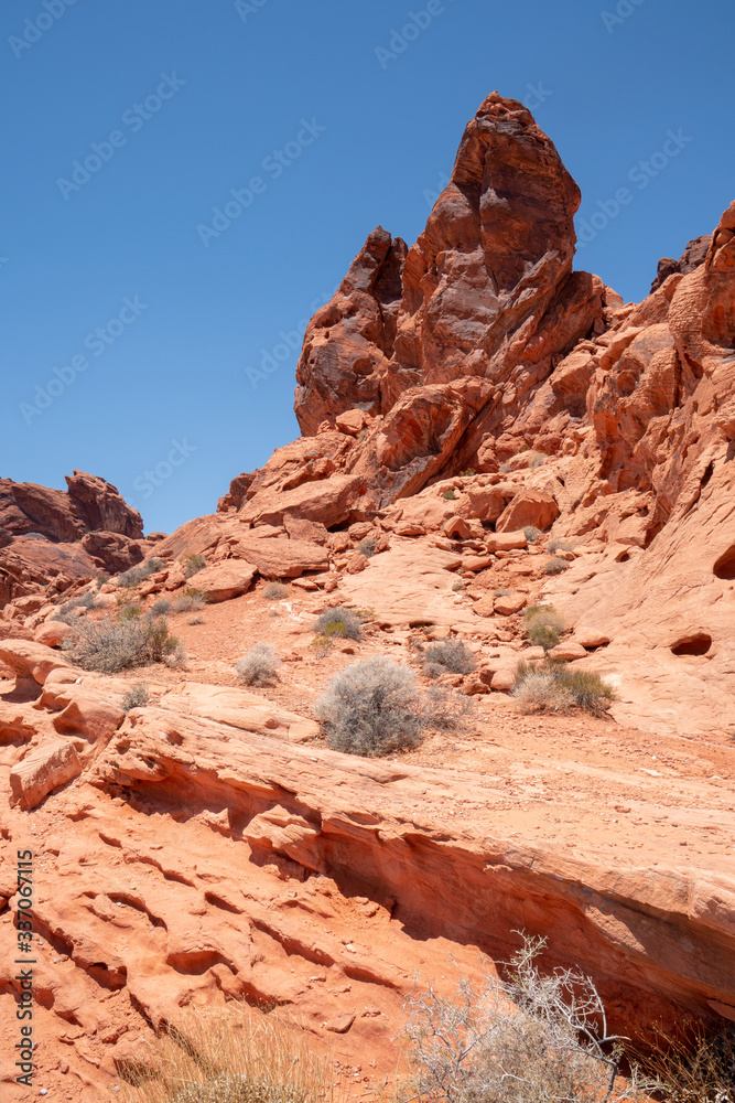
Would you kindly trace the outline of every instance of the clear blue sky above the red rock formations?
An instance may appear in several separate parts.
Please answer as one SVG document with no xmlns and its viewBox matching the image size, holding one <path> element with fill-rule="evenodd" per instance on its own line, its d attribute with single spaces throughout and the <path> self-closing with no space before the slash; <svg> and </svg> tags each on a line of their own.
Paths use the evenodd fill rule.
<svg viewBox="0 0 735 1103">
<path fill-rule="evenodd" d="M 303 320 L 376 225 L 415 239 L 494 88 L 626 300 L 735 197 L 732 0 L 4 0 L 0 31 L 0 475 L 102 475 L 149 532 L 298 436 Z"/>
</svg>

